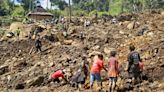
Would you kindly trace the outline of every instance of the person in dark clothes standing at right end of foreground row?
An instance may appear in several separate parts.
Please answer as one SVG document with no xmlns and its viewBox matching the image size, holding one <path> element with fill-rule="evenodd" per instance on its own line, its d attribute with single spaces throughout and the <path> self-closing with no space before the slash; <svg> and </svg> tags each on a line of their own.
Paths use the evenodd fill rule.
<svg viewBox="0 0 164 92">
<path fill-rule="evenodd" d="M 130 53 L 128 55 L 128 73 L 129 78 L 132 83 L 137 83 L 140 77 L 140 67 L 139 62 L 141 61 L 140 55 L 137 51 L 135 51 L 135 46 L 131 45 L 129 47 Z"/>
</svg>

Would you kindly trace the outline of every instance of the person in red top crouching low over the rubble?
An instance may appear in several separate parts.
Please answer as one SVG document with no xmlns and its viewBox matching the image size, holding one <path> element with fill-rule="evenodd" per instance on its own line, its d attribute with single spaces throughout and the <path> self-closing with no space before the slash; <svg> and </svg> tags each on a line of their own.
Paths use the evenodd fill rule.
<svg viewBox="0 0 164 92">
<path fill-rule="evenodd" d="M 64 76 L 65 76 L 65 70 L 61 70 L 61 69 L 57 70 L 51 75 L 50 81 L 59 83 L 60 82 L 59 78 L 62 78 L 67 82 L 67 79 Z"/>
</svg>

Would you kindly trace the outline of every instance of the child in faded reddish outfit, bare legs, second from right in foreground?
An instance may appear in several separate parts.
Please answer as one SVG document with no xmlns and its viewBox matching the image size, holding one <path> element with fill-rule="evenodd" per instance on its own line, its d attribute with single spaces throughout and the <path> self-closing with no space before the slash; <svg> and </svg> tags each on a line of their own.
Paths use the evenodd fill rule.
<svg viewBox="0 0 164 92">
<path fill-rule="evenodd" d="M 116 58 L 116 51 L 111 51 L 110 56 L 108 62 L 109 92 L 114 92 L 119 74 L 119 66 Z"/>
</svg>

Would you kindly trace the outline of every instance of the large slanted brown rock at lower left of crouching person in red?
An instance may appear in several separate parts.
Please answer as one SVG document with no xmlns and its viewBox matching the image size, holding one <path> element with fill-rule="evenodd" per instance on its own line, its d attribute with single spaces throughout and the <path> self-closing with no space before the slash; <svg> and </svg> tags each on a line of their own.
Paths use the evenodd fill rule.
<svg viewBox="0 0 164 92">
<path fill-rule="evenodd" d="M 25 83 L 27 84 L 28 87 L 30 87 L 30 86 L 40 86 L 43 82 L 44 82 L 44 76 L 39 76 L 27 80 Z"/>
</svg>

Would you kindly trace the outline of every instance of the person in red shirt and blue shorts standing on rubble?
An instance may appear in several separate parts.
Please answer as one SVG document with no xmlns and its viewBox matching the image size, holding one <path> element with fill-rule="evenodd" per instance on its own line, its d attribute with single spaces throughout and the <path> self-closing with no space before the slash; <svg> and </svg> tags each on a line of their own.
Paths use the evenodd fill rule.
<svg viewBox="0 0 164 92">
<path fill-rule="evenodd" d="M 93 83 L 95 80 L 97 80 L 97 82 L 99 82 L 99 84 L 102 87 L 102 81 L 101 81 L 101 75 L 100 72 L 101 70 L 104 69 L 105 71 L 107 71 L 104 68 L 104 62 L 103 62 L 103 55 L 98 55 L 98 58 L 96 58 L 93 62 L 93 65 L 91 67 L 91 75 L 90 75 L 90 87 L 93 87 Z"/>
</svg>

